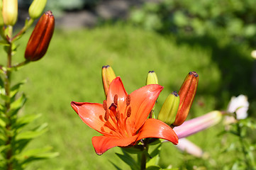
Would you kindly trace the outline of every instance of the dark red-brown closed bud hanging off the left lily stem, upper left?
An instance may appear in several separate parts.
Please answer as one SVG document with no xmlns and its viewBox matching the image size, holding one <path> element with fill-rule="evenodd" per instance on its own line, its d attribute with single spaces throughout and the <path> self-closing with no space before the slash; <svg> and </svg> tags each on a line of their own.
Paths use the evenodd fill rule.
<svg viewBox="0 0 256 170">
<path fill-rule="evenodd" d="M 55 26 L 55 18 L 51 11 L 43 13 L 31 34 L 25 51 L 29 61 L 40 60 L 48 49 Z"/>
</svg>

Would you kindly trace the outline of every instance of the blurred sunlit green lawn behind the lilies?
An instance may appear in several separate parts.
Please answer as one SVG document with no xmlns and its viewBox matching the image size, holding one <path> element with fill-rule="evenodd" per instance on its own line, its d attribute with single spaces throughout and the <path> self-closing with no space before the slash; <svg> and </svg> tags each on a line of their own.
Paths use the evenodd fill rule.
<svg viewBox="0 0 256 170">
<path fill-rule="evenodd" d="M 19 40 L 15 61 L 23 60 L 22 49 L 25 49 L 28 38 L 29 33 Z M 230 65 L 234 61 L 227 63 L 226 59 L 233 57 L 236 64 L 241 61 L 252 63 L 252 59 L 247 47 L 230 47 L 230 51 L 240 50 L 243 55 L 236 52 L 235 56 L 229 56 L 228 41 L 220 42 L 214 42 L 216 45 L 213 46 L 207 40 L 192 42 L 123 25 L 101 26 L 92 30 L 56 30 L 45 57 L 13 74 L 14 81 L 27 79 L 22 91 L 28 96 L 28 101 L 21 114 L 42 114 L 35 125 L 45 122 L 49 125 L 48 132 L 28 147 L 50 145 L 54 152 L 60 153 L 59 157 L 36 162 L 28 169 L 113 169 L 111 162 L 127 169 L 114 154 L 120 152 L 118 147 L 100 157 L 95 154 L 91 137 L 100 134 L 82 123 L 70 107 L 70 101 L 102 103 L 101 67 L 106 64 L 110 64 L 116 75 L 121 76 L 128 93 L 144 86 L 148 71 L 154 70 L 160 84 L 165 86 L 156 111 L 160 110 L 169 93 L 179 91 L 179 86 L 190 71 L 199 74 L 199 89 L 189 118 L 213 109 L 226 109 L 230 96 L 249 91 L 243 88 L 241 91 L 239 88 L 235 88 L 235 92 L 228 91 L 226 86 L 235 86 L 235 82 L 225 81 L 223 77 L 227 74 L 230 77 L 233 72 L 247 74 L 250 72 L 248 68 L 251 68 L 249 64 L 234 70 L 234 65 Z M 221 55 L 221 50 L 227 52 Z M 243 70 L 243 67 L 247 69 Z M 224 72 L 226 74 L 223 74 L 223 68 L 227 70 Z M 224 89 L 223 81 L 226 85 Z M 216 135 L 222 129 L 222 126 L 218 126 L 189 139 L 218 159 L 217 151 L 221 150 L 218 142 L 221 139 Z M 181 166 L 184 160 L 181 158 L 185 156 L 171 144 L 165 144 L 164 148 L 161 164 Z"/>
</svg>

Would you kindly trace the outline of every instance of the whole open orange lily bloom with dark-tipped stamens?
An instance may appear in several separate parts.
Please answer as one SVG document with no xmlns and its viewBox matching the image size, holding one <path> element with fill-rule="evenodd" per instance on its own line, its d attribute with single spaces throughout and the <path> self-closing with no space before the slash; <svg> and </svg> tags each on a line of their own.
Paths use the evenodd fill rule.
<svg viewBox="0 0 256 170">
<path fill-rule="evenodd" d="M 106 100 L 101 103 L 71 102 L 74 111 L 90 128 L 102 136 L 92 137 L 96 154 L 112 147 L 128 147 L 147 137 L 169 140 L 174 145 L 178 137 L 174 130 L 148 115 L 163 87 L 157 84 L 143 86 L 126 93 L 120 77 L 111 82 Z"/>
</svg>

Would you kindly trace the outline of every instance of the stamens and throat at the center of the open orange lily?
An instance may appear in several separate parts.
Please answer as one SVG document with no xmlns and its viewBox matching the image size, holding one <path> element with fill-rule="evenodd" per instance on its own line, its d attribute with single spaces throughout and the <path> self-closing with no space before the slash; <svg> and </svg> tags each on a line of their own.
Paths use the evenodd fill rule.
<svg viewBox="0 0 256 170">
<path fill-rule="evenodd" d="M 113 98 L 111 106 L 107 106 L 106 100 L 103 101 L 103 108 L 105 110 L 104 120 L 106 120 L 104 127 L 109 128 L 111 131 L 110 135 L 116 135 L 118 137 L 132 136 L 133 132 L 130 128 L 130 122 L 128 118 L 131 115 L 130 107 L 130 95 L 126 97 L 126 109 L 124 113 L 119 111 L 118 106 L 118 95 L 116 94 Z"/>
</svg>

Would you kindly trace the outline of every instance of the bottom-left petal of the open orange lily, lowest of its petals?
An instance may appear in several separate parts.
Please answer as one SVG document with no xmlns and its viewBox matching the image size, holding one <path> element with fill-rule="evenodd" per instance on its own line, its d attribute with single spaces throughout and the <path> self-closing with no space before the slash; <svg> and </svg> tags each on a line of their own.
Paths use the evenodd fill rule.
<svg viewBox="0 0 256 170">
<path fill-rule="evenodd" d="M 128 145 L 132 145 L 137 137 L 138 135 L 127 138 L 95 136 L 92 137 L 91 142 L 94 146 L 96 154 L 101 155 L 112 147 L 127 147 Z"/>
</svg>

